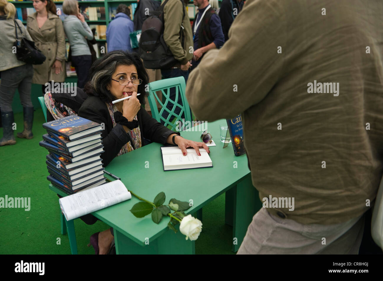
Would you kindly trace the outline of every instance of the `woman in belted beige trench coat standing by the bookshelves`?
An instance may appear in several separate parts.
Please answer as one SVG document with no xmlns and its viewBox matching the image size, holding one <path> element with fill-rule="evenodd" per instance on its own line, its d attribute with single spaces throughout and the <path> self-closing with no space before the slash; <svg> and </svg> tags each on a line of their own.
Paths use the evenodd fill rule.
<svg viewBox="0 0 383 281">
<path fill-rule="evenodd" d="M 34 1 L 33 7 L 36 13 L 27 18 L 27 30 L 31 35 L 36 47 L 43 52 L 46 60 L 41 65 L 33 65 L 34 84 L 41 84 L 45 94 L 45 83 L 64 82 L 65 70 L 65 33 L 61 19 L 56 15 L 56 5 L 51 0 Z M 38 20 L 44 24 L 39 28 Z"/>
</svg>

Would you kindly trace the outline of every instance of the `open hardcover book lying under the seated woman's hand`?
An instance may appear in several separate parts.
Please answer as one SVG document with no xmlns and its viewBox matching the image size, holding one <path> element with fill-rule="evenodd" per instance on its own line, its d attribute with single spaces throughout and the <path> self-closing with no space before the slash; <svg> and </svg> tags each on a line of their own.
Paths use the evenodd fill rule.
<svg viewBox="0 0 383 281">
<path fill-rule="evenodd" d="M 162 165 L 164 171 L 213 167 L 213 163 L 205 148 L 200 148 L 199 156 L 194 148 L 187 148 L 184 156 L 178 146 L 162 146 Z"/>
</svg>

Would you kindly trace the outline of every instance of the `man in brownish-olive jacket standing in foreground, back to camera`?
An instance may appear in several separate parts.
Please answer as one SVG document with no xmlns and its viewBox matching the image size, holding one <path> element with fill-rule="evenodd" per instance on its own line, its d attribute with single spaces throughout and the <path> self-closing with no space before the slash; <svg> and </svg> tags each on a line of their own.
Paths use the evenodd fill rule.
<svg viewBox="0 0 383 281">
<path fill-rule="evenodd" d="M 358 253 L 383 172 L 381 15 L 381 0 L 247 0 L 190 73 L 199 120 L 242 113 L 264 208 L 238 253 Z"/>
</svg>

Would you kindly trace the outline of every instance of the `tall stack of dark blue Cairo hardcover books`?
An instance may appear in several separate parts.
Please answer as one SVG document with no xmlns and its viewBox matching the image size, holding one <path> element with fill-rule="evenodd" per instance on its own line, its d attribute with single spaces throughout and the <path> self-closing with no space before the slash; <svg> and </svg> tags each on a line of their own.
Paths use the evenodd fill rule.
<svg viewBox="0 0 383 281">
<path fill-rule="evenodd" d="M 67 194 L 105 183 L 100 154 L 101 125 L 70 115 L 43 124 L 47 134 L 40 146 L 48 149 L 47 176 L 52 185 Z"/>
</svg>

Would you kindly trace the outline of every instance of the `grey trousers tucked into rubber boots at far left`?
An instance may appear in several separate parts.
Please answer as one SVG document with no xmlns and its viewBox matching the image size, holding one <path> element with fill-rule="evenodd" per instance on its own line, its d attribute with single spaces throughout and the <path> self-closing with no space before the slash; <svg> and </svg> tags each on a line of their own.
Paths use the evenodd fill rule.
<svg viewBox="0 0 383 281">
<path fill-rule="evenodd" d="M 0 107 L 2 111 L 12 110 L 13 96 L 19 90 L 23 107 L 33 107 L 31 100 L 33 67 L 31 64 L 20 65 L 1 72 Z"/>
</svg>

